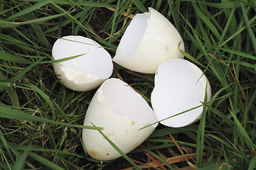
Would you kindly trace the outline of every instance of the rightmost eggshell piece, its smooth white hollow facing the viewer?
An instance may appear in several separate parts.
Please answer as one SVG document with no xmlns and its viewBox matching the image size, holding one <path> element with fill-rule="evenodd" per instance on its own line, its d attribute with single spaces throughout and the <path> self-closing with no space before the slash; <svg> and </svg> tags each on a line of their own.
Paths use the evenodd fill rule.
<svg viewBox="0 0 256 170">
<path fill-rule="evenodd" d="M 164 120 L 188 109 L 200 106 L 211 90 L 205 74 L 187 60 L 174 59 L 159 65 L 155 75 L 155 86 L 151 93 L 151 104 L 156 118 Z M 176 115 L 160 123 L 169 127 L 183 127 L 201 118 L 203 106 Z"/>
</svg>

